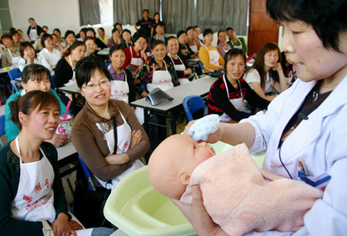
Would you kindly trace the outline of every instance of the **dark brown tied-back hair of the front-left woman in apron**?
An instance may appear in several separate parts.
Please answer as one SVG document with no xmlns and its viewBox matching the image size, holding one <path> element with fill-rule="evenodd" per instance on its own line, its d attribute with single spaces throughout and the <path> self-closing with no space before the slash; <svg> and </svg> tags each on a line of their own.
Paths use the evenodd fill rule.
<svg viewBox="0 0 347 236">
<path fill-rule="evenodd" d="M 19 112 L 23 112 L 24 115 L 30 115 L 35 108 L 41 110 L 50 105 L 57 106 L 60 113 L 60 103 L 51 92 L 42 92 L 40 90 L 27 92 L 8 104 L 11 110 L 10 119 L 18 126 L 19 130 L 22 130 L 22 123 L 19 121 Z"/>
</svg>

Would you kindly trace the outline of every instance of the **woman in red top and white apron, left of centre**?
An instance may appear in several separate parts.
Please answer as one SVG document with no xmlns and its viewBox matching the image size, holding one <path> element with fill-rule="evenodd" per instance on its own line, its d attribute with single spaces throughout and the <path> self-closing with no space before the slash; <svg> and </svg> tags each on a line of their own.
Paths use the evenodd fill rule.
<svg viewBox="0 0 347 236">
<path fill-rule="evenodd" d="M 126 62 L 124 68 L 131 71 L 133 76 L 137 74 L 137 69 L 148 61 L 149 56 L 146 53 L 147 40 L 143 35 L 137 34 L 133 39 L 133 45 L 126 48 Z"/>
</svg>

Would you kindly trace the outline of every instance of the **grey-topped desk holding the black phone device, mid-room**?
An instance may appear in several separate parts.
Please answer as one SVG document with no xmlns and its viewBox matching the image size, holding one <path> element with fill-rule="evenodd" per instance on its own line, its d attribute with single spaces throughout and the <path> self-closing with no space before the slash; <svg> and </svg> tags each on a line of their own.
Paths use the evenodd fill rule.
<svg viewBox="0 0 347 236">
<path fill-rule="evenodd" d="M 186 96 L 190 95 L 198 95 L 198 96 L 206 96 L 208 92 L 210 92 L 210 87 L 217 78 L 211 78 L 210 76 L 205 76 L 203 78 L 199 78 L 198 80 L 194 80 L 190 83 L 185 83 L 183 85 L 179 85 L 177 87 L 172 88 L 171 90 L 165 91 L 171 97 L 174 98 L 173 101 L 163 101 L 159 103 L 157 106 L 152 106 L 151 103 L 146 101 L 145 98 L 139 99 L 137 101 L 133 101 L 130 103 L 131 106 L 144 108 L 144 129 L 148 133 L 148 124 L 149 120 L 149 112 L 154 112 L 155 115 L 160 115 L 162 117 L 171 118 L 171 127 L 162 126 L 160 124 L 153 124 L 156 126 L 162 126 L 164 128 L 171 128 L 172 134 L 176 134 L 176 119 L 180 115 L 180 110 L 183 107 L 183 99 Z"/>
</svg>

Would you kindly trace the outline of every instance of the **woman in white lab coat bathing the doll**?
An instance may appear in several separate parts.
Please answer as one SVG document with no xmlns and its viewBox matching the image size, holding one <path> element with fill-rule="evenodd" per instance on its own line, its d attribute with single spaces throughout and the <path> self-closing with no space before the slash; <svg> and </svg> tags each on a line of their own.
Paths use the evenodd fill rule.
<svg viewBox="0 0 347 236">
<path fill-rule="evenodd" d="M 255 153 L 266 151 L 264 169 L 324 191 L 295 235 L 344 235 L 347 24 L 343 16 L 347 2 L 267 0 L 266 7 L 284 26 L 282 48 L 300 80 L 274 99 L 266 114 L 258 113 L 240 124 L 221 124 L 208 141 L 244 142 Z M 205 213 L 198 187 L 192 192 L 192 205 L 174 203 L 199 235 L 225 235 Z M 289 233 L 271 232 L 282 234 Z"/>
</svg>

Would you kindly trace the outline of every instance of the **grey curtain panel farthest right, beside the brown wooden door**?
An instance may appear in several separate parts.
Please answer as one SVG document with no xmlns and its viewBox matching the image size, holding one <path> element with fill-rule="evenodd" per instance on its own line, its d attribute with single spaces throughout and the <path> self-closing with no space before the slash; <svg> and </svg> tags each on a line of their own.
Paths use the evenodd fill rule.
<svg viewBox="0 0 347 236">
<path fill-rule="evenodd" d="M 214 32 L 232 26 L 237 35 L 247 35 L 247 10 L 247 0 L 197 0 L 198 26 Z"/>
</svg>

